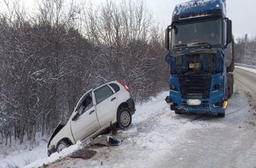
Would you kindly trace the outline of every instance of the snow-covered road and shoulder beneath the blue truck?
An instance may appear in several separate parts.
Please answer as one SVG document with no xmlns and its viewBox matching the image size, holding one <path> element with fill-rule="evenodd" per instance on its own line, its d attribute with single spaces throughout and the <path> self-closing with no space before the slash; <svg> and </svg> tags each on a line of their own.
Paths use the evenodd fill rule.
<svg viewBox="0 0 256 168">
<path fill-rule="evenodd" d="M 90 160 L 68 157 L 48 167 L 256 167 L 256 74 L 235 69 L 225 118 L 175 115 L 158 99 L 138 108 L 119 147 L 90 147 Z M 149 110 L 151 109 L 151 110 Z"/>
</svg>

